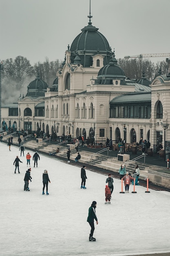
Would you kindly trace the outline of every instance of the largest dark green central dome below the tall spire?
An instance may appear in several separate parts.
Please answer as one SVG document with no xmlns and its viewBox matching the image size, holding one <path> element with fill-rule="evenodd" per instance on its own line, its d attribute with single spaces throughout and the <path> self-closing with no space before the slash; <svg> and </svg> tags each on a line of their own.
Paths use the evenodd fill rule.
<svg viewBox="0 0 170 256">
<path fill-rule="evenodd" d="M 101 54 L 104 56 L 104 65 L 107 65 L 112 54 L 107 39 L 92 26 L 91 22 L 81 30 L 82 33 L 76 36 L 70 48 L 71 63 L 74 63 L 74 58 L 78 54 L 80 63 L 84 67 L 90 67 L 93 65 L 92 56 Z"/>
</svg>

